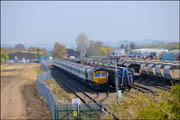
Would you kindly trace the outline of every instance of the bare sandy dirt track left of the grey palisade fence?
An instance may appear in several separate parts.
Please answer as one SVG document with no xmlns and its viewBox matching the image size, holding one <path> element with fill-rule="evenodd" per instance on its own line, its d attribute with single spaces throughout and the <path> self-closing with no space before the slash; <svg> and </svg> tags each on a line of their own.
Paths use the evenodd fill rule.
<svg viewBox="0 0 180 120">
<path fill-rule="evenodd" d="M 1 66 L 1 119 L 27 119 L 30 118 L 27 114 L 27 101 L 23 96 L 23 91 L 27 91 L 27 87 L 30 84 L 36 83 L 36 68 L 39 65 L 2 65 Z M 37 95 L 32 92 L 36 92 L 33 89 L 29 89 L 29 95 L 37 104 L 42 103 L 42 100 L 38 99 Z M 26 92 L 26 94 L 28 91 Z M 27 95 L 28 96 L 28 95 Z M 33 102 L 33 101 L 32 101 Z M 36 104 L 33 104 L 36 106 Z M 38 106 L 39 107 L 39 106 Z M 43 105 L 41 106 L 43 107 Z M 46 108 L 46 106 L 44 105 Z M 31 108 L 31 110 L 36 108 Z M 38 109 L 36 114 L 38 114 Z M 46 111 L 45 111 L 46 113 Z M 32 118 L 39 118 L 33 117 Z M 41 114 L 39 115 L 41 116 Z"/>
</svg>

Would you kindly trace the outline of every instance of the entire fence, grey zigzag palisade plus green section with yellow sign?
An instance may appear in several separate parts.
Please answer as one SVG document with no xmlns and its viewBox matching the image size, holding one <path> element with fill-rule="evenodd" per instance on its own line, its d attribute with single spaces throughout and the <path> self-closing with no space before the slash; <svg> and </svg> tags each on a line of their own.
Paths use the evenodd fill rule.
<svg viewBox="0 0 180 120">
<path fill-rule="evenodd" d="M 51 79 L 51 71 L 47 64 L 52 64 L 53 61 L 41 62 L 41 68 L 45 73 L 37 76 L 37 89 L 40 95 L 46 100 L 53 119 L 99 119 L 102 107 L 97 104 L 58 104 L 51 93 L 51 90 L 44 84 L 45 80 Z"/>
</svg>

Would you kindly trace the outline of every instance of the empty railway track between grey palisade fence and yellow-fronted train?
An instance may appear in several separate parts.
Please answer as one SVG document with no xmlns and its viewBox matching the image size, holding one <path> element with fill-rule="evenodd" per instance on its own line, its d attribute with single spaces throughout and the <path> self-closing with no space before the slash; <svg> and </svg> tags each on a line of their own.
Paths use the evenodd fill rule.
<svg viewBox="0 0 180 120">
<path fill-rule="evenodd" d="M 66 76 L 65 74 L 60 74 L 57 70 L 54 70 L 54 68 L 52 69 L 52 76 L 57 78 L 56 81 L 58 84 L 63 84 L 64 87 L 66 87 L 68 90 L 70 90 L 76 97 L 78 97 L 84 104 L 88 106 L 89 103 L 93 102 L 95 104 L 97 104 L 99 107 L 101 107 L 103 109 L 103 111 L 105 111 L 105 113 L 109 113 L 111 114 L 114 119 L 119 119 L 117 117 L 117 115 L 115 115 L 115 113 L 111 112 L 107 107 L 102 106 L 101 103 L 109 96 L 108 92 L 106 92 L 106 97 L 104 97 L 103 99 L 99 100 L 99 102 L 97 102 L 94 98 L 92 98 L 91 96 L 89 96 L 87 93 L 85 93 L 82 89 L 80 89 L 79 87 L 76 86 L 76 84 L 73 84 L 72 81 L 70 81 L 69 76 Z M 76 92 L 79 91 L 79 92 Z M 99 96 L 99 93 L 97 93 L 96 98 Z M 89 100 L 87 100 L 87 98 Z M 89 107 L 90 108 L 90 107 Z M 91 108 L 90 108 L 91 109 Z"/>
</svg>

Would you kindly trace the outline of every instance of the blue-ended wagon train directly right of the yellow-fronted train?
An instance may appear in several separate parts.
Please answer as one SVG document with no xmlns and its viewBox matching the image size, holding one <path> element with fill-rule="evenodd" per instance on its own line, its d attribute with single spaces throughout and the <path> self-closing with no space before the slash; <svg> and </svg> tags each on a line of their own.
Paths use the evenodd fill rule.
<svg viewBox="0 0 180 120">
<path fill-rule="evenodd" d="M 77 62 L 72 59 L 69 59 L 72 62 Z M 115 69 L 115 64 L 111 61 L 95 61 L 93 59 L 83 59 L 80 62 L 81 64 L 90 65 L 90 66 L 101 66 L 104 70 L 108 71 L 109 73 L 109 81 L 108 85 L 112 88 L 115 88 L 115 78 L 117 72 L 118 78 L 118 87 L 120 90 L 131 89 L 134 83 L 134 71 L 130 70 L 127 67 L 117 66 L 117 71 Z"/>
</svg>

